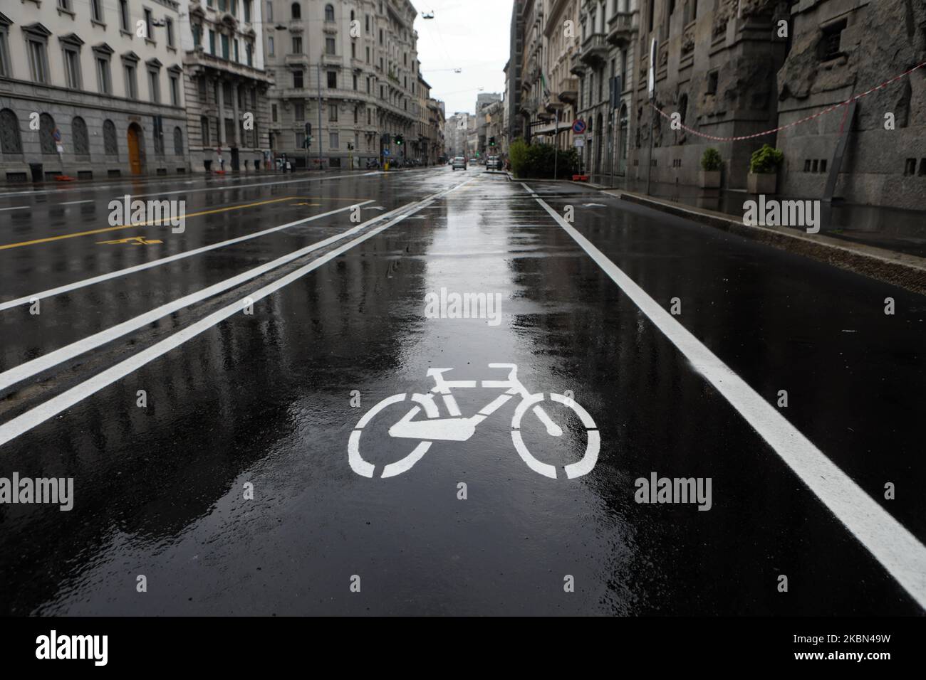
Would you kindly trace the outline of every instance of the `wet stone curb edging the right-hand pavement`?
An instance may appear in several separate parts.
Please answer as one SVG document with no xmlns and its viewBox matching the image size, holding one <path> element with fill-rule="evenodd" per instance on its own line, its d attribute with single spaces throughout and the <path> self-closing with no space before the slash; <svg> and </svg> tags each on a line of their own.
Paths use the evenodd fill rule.
<svg viewBox="0 0 926 680">
<path fill-rule="evenodd" d="M 623 201 L 661 210 L 669 215 L 691 219 L 708 227 L 722 229 L 779 250 L 810 257 L 827 265 L 890 283 L 899 288 L 926 294 L 926 259 L 895 253 L 860 243 L 839 241 L 829 236 L 808 235 L 796 229 L 749 227 L 731 216 L 687 205 L 659 201 L 633 192 L 607 192 Z"/>
</svg>

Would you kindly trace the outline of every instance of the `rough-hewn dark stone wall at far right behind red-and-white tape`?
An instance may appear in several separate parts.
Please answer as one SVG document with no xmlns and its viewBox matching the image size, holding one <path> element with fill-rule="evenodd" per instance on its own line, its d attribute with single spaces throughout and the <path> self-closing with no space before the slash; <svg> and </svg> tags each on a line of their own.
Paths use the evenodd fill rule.
<svg viewBox="0 0 926 680">
<path fill-rule="evenodd" d="M 926 61 L 926 3 L 824 0 L 795 3 L 793 39 L 778 73 L 778 124 L 845 102 Z M 779 191 L 824 196 L 841 130 L 845 156 L 833 195 L 856 204 L 926 206 L 926 68 L 778 133 Z M 890 116 L 889 116 L 890 114 Z M 893 129 L 889 129 L 892 128 Z"/>
</svg>

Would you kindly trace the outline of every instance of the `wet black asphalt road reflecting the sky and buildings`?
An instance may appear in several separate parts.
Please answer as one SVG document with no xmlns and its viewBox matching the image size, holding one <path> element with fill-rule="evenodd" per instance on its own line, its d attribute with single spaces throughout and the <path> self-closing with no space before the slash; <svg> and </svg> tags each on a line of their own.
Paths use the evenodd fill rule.
<svg viewBox="0 0 926 680">
<path fill-rule="evenodd" d="M 408 212 L 86 352 L 72 347 L 0 391 L 0 476 L 73 477 L 75 497 L 70 512 L 0 505 L 0 612 L 922 614 L 896 569 L 519 182 L 476 167 L 183 181 L 0 195 L 0 303 L 341 212 L 47 297 L 39 315 L 28 303 L 3 309 L 4 376 L 356 228 L 351 206 L 369 201 L 362 220 Z M 574 228 L 657 303 L 679 298 L 674 318 L 766 401 L 786 389 L 781 414 L 914 541 L 926 539 L 926 298 L 588 189 L 528 187 L 561 215 L 571 205 Z M 69 236 L 106 229 L 122 193 L 178 191 L 164 197 L 187 202 L 182 234 Z M 163 242 L 99 242 L 133 236 Z M 44 239 L 55 240 L 31 242 Z M 296 278 L 311 262 L 321 264 Z M 86 388 L 286 275 L 294 280 L 253 314 L 206 324 Z M 432 318 L 426 301 L 442 289 L 499 299 L 500 315 Z M 895 315 L 884 314 L 886 297 Z M 594 420 L 548 398 L 555 437 L 536 412 L 523 415 L 524 447 L 557 478 L 516 450 L 519 398 L 469 439 L 434 440 L 383 478 L 419 443 L 390 427 L 410 395 L 432 389 L 429 369 L 477 381 L 454 390 L 469 416 L 503 391 L 482 386 L 507 377 L 490 364 L 517 365 L 530 393 L 569 390 Z M 36 415 L 74 389 L 88 393 Z M 392 395 L 409 396 L 374 409 Z M 36 424 L 6 440 L 3 428 L 23 419 Z M 357 430 L 371 478 L 349 464 Z M 596 464 L 566 478 L 594 436 Z M 635 480 L 652 473 L 709 477 L 710 509 L 636 502 Z"/>
</svg>

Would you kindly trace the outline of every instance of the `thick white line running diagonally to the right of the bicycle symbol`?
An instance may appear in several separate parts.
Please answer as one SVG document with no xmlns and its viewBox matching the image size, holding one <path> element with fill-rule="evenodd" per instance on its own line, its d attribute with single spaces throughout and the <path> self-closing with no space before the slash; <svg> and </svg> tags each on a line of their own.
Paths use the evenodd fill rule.
<svg viewBox="0 0 926 680">
<path fill-rule="evenodd" d="M 755 389 L 669 315 L 646 291 L 594 247 L 556 210 L 521 183 L 560 227 L 600 266 L 621 291 L 662 331 L 714 389 L 731 403 L 758 435 L 840 522 L 867 548 L 920 607 L 926 609 L 926 547 L 860 488 Z"/>
</svg>

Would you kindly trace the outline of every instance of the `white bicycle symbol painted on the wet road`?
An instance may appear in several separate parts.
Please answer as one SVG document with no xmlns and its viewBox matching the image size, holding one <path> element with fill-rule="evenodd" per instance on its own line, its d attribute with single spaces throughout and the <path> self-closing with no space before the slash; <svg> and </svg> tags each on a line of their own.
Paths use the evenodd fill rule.
<svg viewBox="0 0 926 680">
<path fill-rule="evenodd" d="M 587 475 L 591 472 L 594 464 L 598 460 L 598 450 L 601 445 L 601 438 L 598 434 L 597 426 L 595 426 L 594 420 L 592 420 L 592 416 L 578 403 L 562 394 L 555 394 L 553 392 L 550 392 L 548 395 L 544 395 L 543 392 L 532 394 L 519 381 L 518 366 L 515 364 L 490 364 L 489 367 L 509 369 L 507 379 L 482 381 L 444 380 L 444 373 L 452 371 L 453 368 L 430 368 L 428 369 L 428 377 L 433 377 L 435 383 L 434 387 L 431 389 L 431 393 L 394 394 L 392 397 L 387 397 L 383 399 L 382 402 L 377 403 L 360 418 L 357 426 L 354 427 L 354 431 L 351 432 L 350 440 L 347 444 L 347 457 L 351 469 L 353 469 L 357 475 L 366 477 L 373 476 L 375 465 L 364 460 L 363 456 L 360 455 L 360 437 L 363 433 L 363 428 L 367 427 L 369 422 L 379 414 L 382 409 L 394 403 L 410 401 L 418 405 L 413 406 L 401 420 L 389 428 L 389 436 L 396 439 L 413 439 L 417 440 L 419 443 L 414 450 L 401 460 L 385 465 L 382 470 L 383 477 L 401 475 L 410 470 L 412 465 L 418 463 L 424 454 L 428 452 L 428 449 L 431 448 L 432 443 L 435 441 L 468 440 L 475 433 L 476 426 L 482 423 L 483 420 L 494 414 L 495 411 L 501 408 L 510 399 L 520 397 L 521 402 L 518 404 L 518 408 L 511 418 L 511 439 L 514 442 L 515 450 L 518 451 L 524 463 L 528 464 L 528 467 L 534 472 L 556 479 L 556 466 L 537 460 L 532 455 L 531 451 L 528 451 L 527 446 L 524 445 L 524 439 L 521 437 L 520 429 L 521 419 L 524 417 L 524 414 L 528 412 L 528 409 L 532 409 L 533 414 L 535 414 L 540 422 L 544 424 L 544 427 L 546 427 L 547 434 L 551 437 L 563 436 L 562 428 L 557 426 L 557 424 L 550 419 L 550 416 L 546 414 L 541 405 L 541 402 L 544 402 L 544 399 L 548 397 L 551 402 L 561 403 L 572 409 L 572 411 L 579 416 L 579 419 L 582 421 L 582 426 L 587 433 L 587 443 L 582 459 L 575 463 L 565 465 L 563 471 L 569 479 Z M 505 389 L 506 392 L 483 406 L 478 414 L 469 418 L 463 417 L 457 406 L 457 400 L 454 399 L 452 390 L 474 389 L 477 387 L 477 382 L 481 382 L 482 388 Z M 440 409 L 435 402 L 435 395 L 437 394 L 441 395 L 443 398 L 444 407 L 450 417 L 441 417 Z M 421 413 L 422 410 L 426 416 L 425 419 L 416 420 L 415 416 Z"/>
</svg>

